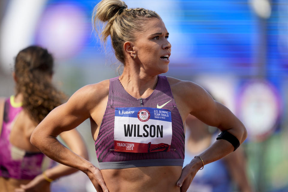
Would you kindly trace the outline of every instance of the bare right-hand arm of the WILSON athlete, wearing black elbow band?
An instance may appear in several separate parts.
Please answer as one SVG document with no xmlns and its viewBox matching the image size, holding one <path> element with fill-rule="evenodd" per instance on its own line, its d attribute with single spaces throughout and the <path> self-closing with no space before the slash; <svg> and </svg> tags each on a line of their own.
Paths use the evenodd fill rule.
<svg viewBox="0 0 288 192">
<path fill-rule="evenodd" d="M 227 130 L 241 143 L 247 137 L 247 131 L 242 122 L 225 106 L 214 101 L 201 86 L 189 82 L 172 79 L 173 97 L 182 118 L 186 119 L 188 113 L 195 116 L 207 125 L 217 127 L 221 131 Z M 226 140 L 217 140 L 213 145 L 199 154 L 204 165 L 217 161 L 234 150 L 231 143 Z M 186 191 L 197 171 L 202 167 L 200 158 L 194 158 L 182 170 L 182 175 L 177 182 L 181 191 Z"/>
</svg>

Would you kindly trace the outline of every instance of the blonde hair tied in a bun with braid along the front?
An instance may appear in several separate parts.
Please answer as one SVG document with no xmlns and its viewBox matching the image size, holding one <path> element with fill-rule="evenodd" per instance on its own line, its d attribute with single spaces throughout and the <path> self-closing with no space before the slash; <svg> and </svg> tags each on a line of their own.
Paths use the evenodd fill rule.
<svg viewBox="0 0 288 192">
<path fill-rule="evenodd" d="M 134 32 L 143 31 L 145 21 L 150 18 L 161 17 L 152 10 L 144 8 L 130 8 L 121 0 L 102 0 L 93 10 L 92 22 L 94 29 L 102 40 L 107 42 L 110 35 L 111 44 L 116 58 L 124 64 L 123 44 L 125 41 L 135 41 Z M 99 21 L 107 22 L 100 28 Z"/>
</svg>

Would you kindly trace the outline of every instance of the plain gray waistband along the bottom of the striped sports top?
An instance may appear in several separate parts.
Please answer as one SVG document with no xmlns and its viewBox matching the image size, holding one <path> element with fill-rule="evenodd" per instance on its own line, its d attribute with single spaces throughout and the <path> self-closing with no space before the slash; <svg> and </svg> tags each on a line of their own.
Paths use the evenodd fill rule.
<svg viewBox="0 0 288 192">
<path fill-rule="evenodd" d="M 181 166 L 183 159 L 147 159 L 135 161 L 101 162 L 100 169 L 124 169 L 131 167 L 152 167 L 152 166 Z"/>
</svg>

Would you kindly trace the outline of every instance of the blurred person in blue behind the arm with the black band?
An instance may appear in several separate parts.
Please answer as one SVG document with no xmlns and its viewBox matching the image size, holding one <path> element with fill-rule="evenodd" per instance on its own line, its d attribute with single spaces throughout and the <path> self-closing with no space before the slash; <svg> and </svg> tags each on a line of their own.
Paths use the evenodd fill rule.
<svg viewBox="0 0 288 192">
<path fill-rule="evenodd" d="M 186 144 L 183 166 L 216 141 L 217 128 L 206 125 L 196 117 L 186 119 Z M 246 158 L 241 147 L 224 158 L 214 161 L 199 171 L 187 192 L 252 192 L 246 173 Z M 236 186 L 235 186 L 236 185 Z"/>
</svg>

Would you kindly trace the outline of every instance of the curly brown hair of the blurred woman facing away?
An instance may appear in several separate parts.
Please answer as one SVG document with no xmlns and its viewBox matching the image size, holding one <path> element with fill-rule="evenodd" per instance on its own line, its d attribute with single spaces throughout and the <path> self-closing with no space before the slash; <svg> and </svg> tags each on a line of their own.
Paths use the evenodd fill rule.
<svg viewBox="0 0 288 192">
<path fill-rule="evenodd" d="M 61 105 L 66 96 L 52 85 L 53 57 L 40 46 L 21 50 L 15 59 L 16 95 L 23 95 L 23 109 L 36 123 Z"/>
</svg>

